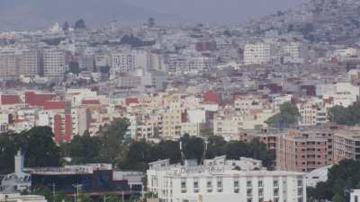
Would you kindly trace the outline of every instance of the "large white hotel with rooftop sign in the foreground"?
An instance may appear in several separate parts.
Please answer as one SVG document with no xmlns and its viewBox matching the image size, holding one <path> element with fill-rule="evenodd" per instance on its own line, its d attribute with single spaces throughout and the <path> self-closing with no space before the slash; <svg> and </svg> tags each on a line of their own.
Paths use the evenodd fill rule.
<svg viewBox="0 0 360 202">
<path fill-rule="evenodd" d="M 147 172 L 148 192 L 160 202 L 303 202 L 305 176 L 290 171 L 237 171 L 237 161 L 204 165 L 169 160 L 152 162 Z"/>
</svg>

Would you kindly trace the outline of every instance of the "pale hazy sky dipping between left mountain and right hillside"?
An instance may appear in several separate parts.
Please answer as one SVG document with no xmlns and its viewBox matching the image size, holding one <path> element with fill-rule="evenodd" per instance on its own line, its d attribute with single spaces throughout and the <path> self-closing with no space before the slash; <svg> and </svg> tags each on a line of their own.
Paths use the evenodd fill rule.
<svg viewBox="0 0 360 202">
<path fill-rule="evenodd" d="M 243 22 L 248 17 L 275 13 L 305 0 L 123 0 L 194 22 Z"/>
</svg>

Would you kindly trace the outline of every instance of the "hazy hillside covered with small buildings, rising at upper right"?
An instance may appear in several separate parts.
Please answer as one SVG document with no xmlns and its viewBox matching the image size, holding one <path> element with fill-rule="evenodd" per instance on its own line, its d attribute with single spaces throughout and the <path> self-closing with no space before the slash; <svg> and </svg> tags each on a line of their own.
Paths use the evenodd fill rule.
<svg viewBox="0 0 360 202">
<path fill-rule="evenodd" d="M 312 41 L 354 41 L 360 37 L 360 1 L 310 0 L 247 24 L 257 34 L 298 31 Z"/>
</svg>

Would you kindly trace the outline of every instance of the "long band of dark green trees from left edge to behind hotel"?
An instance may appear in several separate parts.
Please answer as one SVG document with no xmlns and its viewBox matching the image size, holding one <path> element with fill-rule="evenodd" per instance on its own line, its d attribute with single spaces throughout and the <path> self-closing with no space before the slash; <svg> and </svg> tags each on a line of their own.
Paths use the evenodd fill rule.
<svg viewBox="0 0 360 202">
<path fill-rule="evenodd" d="M 159 143 L 133 141 L 126 136 L 127 119 L 117 119 L 100 128 L 98 136 L 75 136 L 70 143 L 56 145 L 49 127 L 33 127 L 20 134 L 0 136 L 0 173 L 14 171 L 14 154 L 22 149 L 25 166 L 58 166 L 64 163 L 107 162 L 122 169 L 146 171 L 148 162 L 170 159 L 181 162 L 179 141 L 182 142 L 186 158 L 202 159 L 204 140 L 185 135 L 179 141 L 164 140 Z M 251 157 L 260 159 L 267 167 L 273 167 L 275 152 L 268 151 L 258 140 L 250 143 L 226 142 L 221 136 L 208 136 L 206 158 L 227 155 L 229 159 Z M 71 162 L 62 161 L 70 157 Z M 3 163 L 4 162 L 4 163 Z"/>
</svg>

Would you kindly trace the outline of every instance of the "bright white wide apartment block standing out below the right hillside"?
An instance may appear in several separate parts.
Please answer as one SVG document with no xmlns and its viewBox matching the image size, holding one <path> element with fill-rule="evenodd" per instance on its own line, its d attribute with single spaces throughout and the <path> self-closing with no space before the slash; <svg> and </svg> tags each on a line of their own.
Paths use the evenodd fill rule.
<svg viewBox="0 0 360 202">
<path fill-rule="evenodd" d="M 266 65 L 276 57 L 275 45 L 270 43 L 247 44 L 244 48 L 245 65 Z"/>
</svg>

